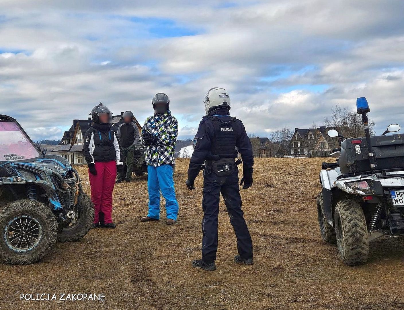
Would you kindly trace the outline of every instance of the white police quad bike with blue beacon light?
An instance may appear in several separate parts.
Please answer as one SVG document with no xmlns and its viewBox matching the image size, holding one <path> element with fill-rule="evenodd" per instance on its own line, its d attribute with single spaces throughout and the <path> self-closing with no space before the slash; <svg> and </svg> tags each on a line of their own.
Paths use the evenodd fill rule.
<svg viewBox="0 0 404 310">
<path fill-rule="evenodd" d="M 339 254 L 349 266 L 365 264 L 369 242 L 381 236 L 404 236 L 404 137 L 400 125 L 391 124 L 383 135 L 370 137 L 366 98 L 357 99 L 365 136 L 339 138 L 337 162 L 323 162 L 322 191 L 317 210 L 323 240 L 337 242 Z"/>
</svg>

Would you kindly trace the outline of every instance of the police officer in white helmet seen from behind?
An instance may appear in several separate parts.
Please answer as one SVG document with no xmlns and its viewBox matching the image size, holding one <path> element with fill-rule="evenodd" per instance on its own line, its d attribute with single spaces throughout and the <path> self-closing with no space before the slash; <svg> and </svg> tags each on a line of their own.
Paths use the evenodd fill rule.
<svg viewBox="0 0 404 310">
<path fill-rule="evenodd" d="M 194 153 L 185 182 L 189 190 L 194 190 L 194 180 L 204 167 L 202 259 L 192 261 L 192 266 L 208 271 L 216 269 L 220 193 L 237 237 L 239 255 L 234 257 L 234 261 L 252 265 L 252 242 L 241 209 L 238 168 L 235 162 L 237 152 L 240 152 L 243 161 L 240 185 L 244 183 L 243 189 L 249 188 L 252 186 L 254 164 L 251 142 L 242 122 L 229 115 L 230 98 L 225 89 L 210 89 L 205 95 L 204 103 L 206 116 L 202 118 L 194 139 Z"/>
</svg>

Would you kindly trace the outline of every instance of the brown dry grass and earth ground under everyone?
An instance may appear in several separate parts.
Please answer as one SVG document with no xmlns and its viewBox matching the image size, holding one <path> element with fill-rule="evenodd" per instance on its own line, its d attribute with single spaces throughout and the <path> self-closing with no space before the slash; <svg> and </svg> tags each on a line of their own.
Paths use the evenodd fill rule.
<svg viewBox="0 0 404 310">
<path fill-rule="evenodd" d="M 191 268 L 200 257 L 202 175 L 184 186 L 177 161 L 178 223 L 141 223 L 147 177 L 114 190 L 116 230 L 96 229 L 57 243 L 31 266 L 0 264 L 4 309 L 402 309 L 404 239 L 377 240 L 368 264 L 347 267 L 318 231 L 316 196 L 324 158 L 258 158 L 254 186 L 242 190 L 254 243 L 253 266 L 233 262 L 236 238 L 223 201 L 217 270 Z M 329 160 L 329 159 L 328 159 Z M 80 167 L 84 189 L 88 176 Z M 105 293 L 105 302 L 20 301 L 20 293 Z"/>
</svg>

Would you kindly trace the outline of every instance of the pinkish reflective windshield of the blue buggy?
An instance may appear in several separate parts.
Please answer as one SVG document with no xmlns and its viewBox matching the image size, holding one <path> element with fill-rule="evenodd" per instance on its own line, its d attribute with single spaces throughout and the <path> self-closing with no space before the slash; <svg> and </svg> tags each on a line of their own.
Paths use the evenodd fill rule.
<svg viewBox="0 0 404 310">
<path fill-rule="evenodd" d="M 31 139 L 15 122 L 0 122 L 0 161 L 18 161 L 41 156 Z"/>
</svg>

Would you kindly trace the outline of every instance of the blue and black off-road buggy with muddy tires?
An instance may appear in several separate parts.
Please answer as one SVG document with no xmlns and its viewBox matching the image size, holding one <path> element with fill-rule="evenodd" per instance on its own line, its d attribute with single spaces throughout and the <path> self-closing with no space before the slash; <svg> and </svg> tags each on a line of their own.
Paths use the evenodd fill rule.
<svg viewBox="0 0 404 310">
<path fill-rule="evenodd" d="M 0 260 L 32 264 L 57 241 L 82 238 L 94 220 L 77 171 L 41 153 L 17 120 L 0 114 Z"/>
</svg>

